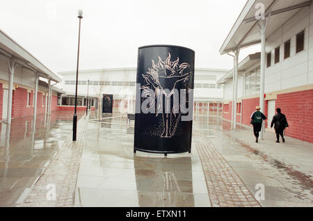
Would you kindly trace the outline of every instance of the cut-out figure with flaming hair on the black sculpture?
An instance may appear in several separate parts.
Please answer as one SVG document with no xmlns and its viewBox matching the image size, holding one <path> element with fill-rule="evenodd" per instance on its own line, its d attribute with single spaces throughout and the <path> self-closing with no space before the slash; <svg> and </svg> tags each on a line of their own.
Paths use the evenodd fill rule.
<svg viewBox="0 0 313 221">
<path fill-rule="evenodd" d="M 179 58 L 173 62 L 170 61 L 170 54 L 168 54 L 168 58 L 166 58 L 165 61 L 162 61 L 159 57 L 159 63 L 157 63 L 157 65 L 154 63 L 154 60 L 152 60 L 152 68 L 149 68 L 146 74 L 143 74 L 146 85 L 143 85 L 142 89 L 145 90 L 147 94 L 149 94 L 149 89 L 154 90 L 154 95 L 157 99 L 156 116 L 162 113 L 163 133 L 161 134 L 161 138 L 171 138 L 175 135 L 177 124 L 182 115 L 179 103 L 175 101 L 170 110 L 163 111 L 163 95 L 166 96 L 166 108 L 170 108 L 170 97 L 174 95 L 175 99 L 175 97 L 178 96 L 175 95 L 176 84 L 179 81 L 186 83 L 190 78 L 190 72 L 184 72 L 187 67 L 190 67 L 187 63 L 179 65 Z M 176 116 L 177 113 L 178 116 Z M 172 125 L 172 123 L 174 124 Z"/>
</svg>

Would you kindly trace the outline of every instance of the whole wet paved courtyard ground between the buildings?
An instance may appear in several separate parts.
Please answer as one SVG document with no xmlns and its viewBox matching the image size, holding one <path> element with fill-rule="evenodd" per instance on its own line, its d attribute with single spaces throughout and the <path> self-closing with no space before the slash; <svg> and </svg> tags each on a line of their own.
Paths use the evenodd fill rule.
<svg viewBox="0 0 313 221">
<path fill-rule="evenodd" d="M 72 112 L 38 117 L 35 133 L 31 117 L 13 120 L 10 145 L 1 124 L 0 206 L 313 206 L 310 143 L 255 144 L 249 129 L 196 117 L 191 154 L 134 154 L 134 121 L 104 117 L 81 117 L 77 142 Z"/>
</svg>

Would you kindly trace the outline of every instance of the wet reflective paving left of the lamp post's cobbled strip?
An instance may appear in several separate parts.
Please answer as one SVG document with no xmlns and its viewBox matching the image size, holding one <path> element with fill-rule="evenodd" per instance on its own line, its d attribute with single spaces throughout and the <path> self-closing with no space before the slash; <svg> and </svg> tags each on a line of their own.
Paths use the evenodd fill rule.
<svg viewBox="0 0 313 221">
<path fill-rule="evenodd" d="M 0 124 L 0 206 L 24 202 L 33 183 L 72 133 L 72 117 L 72 111 L 38 115 L 35 129 L 33 117 Z"/>
</svg>

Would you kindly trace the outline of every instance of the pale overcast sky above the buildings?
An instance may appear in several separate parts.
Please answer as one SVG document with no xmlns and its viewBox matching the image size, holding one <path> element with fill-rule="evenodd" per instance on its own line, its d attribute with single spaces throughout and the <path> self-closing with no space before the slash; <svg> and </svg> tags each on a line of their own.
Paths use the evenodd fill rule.
<svg viewBox="0 0 313 221">
<path fill-rule="evenodd" d="M 195 50 L 195 67 L 230 69 L 218 53 L 247 0 L 2 1 L 0 28 L 54 72 L 136 67 L 137 49 L 175 44 Z M 259 51 L 241 51 L 240 60 Z"/>
</svg>

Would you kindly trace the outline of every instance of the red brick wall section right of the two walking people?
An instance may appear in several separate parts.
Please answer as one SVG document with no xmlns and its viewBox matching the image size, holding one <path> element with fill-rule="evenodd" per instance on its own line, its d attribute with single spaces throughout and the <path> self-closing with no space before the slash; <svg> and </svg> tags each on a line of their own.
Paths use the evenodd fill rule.
<svg viewBox="0 0 313 221">
<path fill-rule="evenodd" d="M 313 142 L 313 90 L 278 95 L 275 108 L 287 117 L 287 136 Z"/>
</svg>

